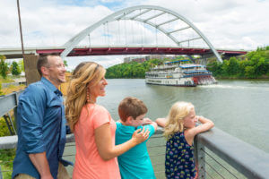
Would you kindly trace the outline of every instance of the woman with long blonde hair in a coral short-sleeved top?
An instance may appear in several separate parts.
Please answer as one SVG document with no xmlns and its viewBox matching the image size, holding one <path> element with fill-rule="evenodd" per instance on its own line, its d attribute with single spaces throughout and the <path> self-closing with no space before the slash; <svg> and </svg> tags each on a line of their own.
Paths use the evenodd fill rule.
<svg viewBox="0 0 269 179">
<path fill-rule="evenodd" d="M 93 62 L 79 64 L 67 91 L 65 115 L 74 132 L 73 178 L 120 178 L 117 156 L 145 141 L 149 132 L 134 132 L 133 138 L 115 146 L 116 123 L 106 108 L 96 104 L 106 95 L 106 70 Z"/>
</svg>

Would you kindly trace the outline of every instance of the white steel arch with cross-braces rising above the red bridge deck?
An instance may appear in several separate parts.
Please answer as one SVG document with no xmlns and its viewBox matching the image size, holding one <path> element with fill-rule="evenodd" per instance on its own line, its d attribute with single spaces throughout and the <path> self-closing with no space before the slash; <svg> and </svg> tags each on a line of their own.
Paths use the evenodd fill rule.
<svg viewBox="0 0 269 179">
<path fill-rule="evenodd" d="M 152 10 L 158 10 L 158 11 L 160 11 L 160 13 L 154 14 L 153 16 L 148 17 L 148 18 L 142 18 L 142 15 L 144 13 L 149 13 Z M 133 14 L 135 11 L 137 12 L 136 14 L 134 14 L 133 16 L 128 16 L 128 14 L 131 14 L 131 13 Z M 169 21 L 163 21 L 161 23 L 156 23 L 156 22 L 151 21 L 152 19 L 160 17 L 161 15 L 163 15 L 165 13 L 172 15 L 173 19 L 171 19 Z M 112 13 L 112 14 L 108 15 L 107 17 L 92 24 L 91 26 L 89 26 L 85 30 L 82 30 L 80 33 L 78 33 L 73 38 L 68 40 L 64 45 L 65 50 L 62 52 L 61 56 L 63 58 L 65 58 L 65 56 L 67 56 L 72 51 L 72 49 L 82 41 L 83 38 L 85 38 L 88 34 L 90 34 L 91 31 L 100 27 L 100 25 L 102 25 L 104 23 L 108 23 L 109 21 L 119 21 L 119 20 L 141 21 L 145 24 L 148 24 L 148 25 L 160 30 L 161 32 L 163 32 L 167 37 L 169 37 L 171 40 L 173 40 L 178 47 L 180 47 L 180 44 L 183 42 L 192 41 L 192 40 L 202 38 L 204 40 L 205 44 L 208 47 L 210 47 L 213 54 L 217 57 L 217 60 L 222 63 L 221 55 L 219 55 L 219 53 L 215 50 L 215 48 L 213 47 L 211 42 L 204 36 L 204 34 L 200 30 L 198 30 L 195 27 L 195 25 L 192 22 L 188 21 L 185 17 L 183 17 L 182 15 L 180 15 L 174 11 L 171 11 L 169 9 L 166 9 L 166 8 L 163 8 L 160 6 L 155 6 L 155 5 L 138 5 L 138 6 L 129 7 L 129 8 L 117 11 L 116 13 Z M 162 25 L 167 24 L 171 21 L 177 21 L 177 20 L 184 21 L 187 24 L 187 27 L 184 27 L 184 28 L 181 28 L 178 30 L 172 30 L 172 31 L 168 31 L 168 30 L 161 28 Z M 177 31 L 187 30 L 190 28 L 192 30 L 195 30 L 196 35 L 198 35 L 197 38 L 190 38 L 187 40 L 180 41 L 177 37 L 173 36 L 173 33 L 177 32 Z"/>
</svg>

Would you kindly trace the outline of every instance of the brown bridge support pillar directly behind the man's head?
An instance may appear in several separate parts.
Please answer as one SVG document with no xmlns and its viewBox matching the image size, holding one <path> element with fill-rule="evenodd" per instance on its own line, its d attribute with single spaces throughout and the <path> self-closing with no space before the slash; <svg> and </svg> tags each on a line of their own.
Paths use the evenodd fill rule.
<svg viewBox="0 0 269 179">
<path fill-rule="evenodd" d="M 23 63 L 25 69 L 25 78 L 27 85 L 40 80 L 40 75 L 37 69 L 39 55 L 23 55 Z"/>
</svg>

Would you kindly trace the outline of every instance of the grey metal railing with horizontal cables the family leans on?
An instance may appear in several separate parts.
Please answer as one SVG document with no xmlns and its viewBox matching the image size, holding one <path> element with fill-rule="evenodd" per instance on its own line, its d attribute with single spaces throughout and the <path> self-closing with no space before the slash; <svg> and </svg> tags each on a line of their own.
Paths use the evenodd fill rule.
<svg viewBox="0 0 269 179">
<path fill-rule="evenodd" d="M 16 115 L 18 93 L 0 97 L 1 115 L 11 109 Z M 4 108 L 4 109 L 3 109 Z M 0 151 L 3 156 L 14 152 L 17 136 L 0 138 Z M 74 162 L 74 135 L 68 134 L 65 145 L 64 158 Z M 148 151 L 152 159 L 152 166 L 157 178 L 165 178 L 165 139 L 159 128 L 147 142 Z M 209 132 L 200 133 L 195 137 L 195 158 L 199 178 L 268 178 L 269 154 L 261 149 L 231 136 L 214 127 Z M 3 175 L 10 175 L 13 159 L 0 159 L 0 179 Z M 73 166 L 67 170 L 72 174 Z"/>
</svg>

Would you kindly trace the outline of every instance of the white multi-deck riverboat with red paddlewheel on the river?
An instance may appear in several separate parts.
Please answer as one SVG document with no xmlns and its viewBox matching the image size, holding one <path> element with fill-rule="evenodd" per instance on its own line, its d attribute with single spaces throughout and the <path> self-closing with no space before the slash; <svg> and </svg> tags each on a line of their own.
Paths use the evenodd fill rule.
<svg viewBox="0 0 269 179">
<path fill-rule="evenodd" d="M 156 65 L 145 72 L 147 84 L 195 87 L 217 83 L 212 72 L 202 64 L 192 64 L 189 60 L 178 60 Z"/>
</svg>

